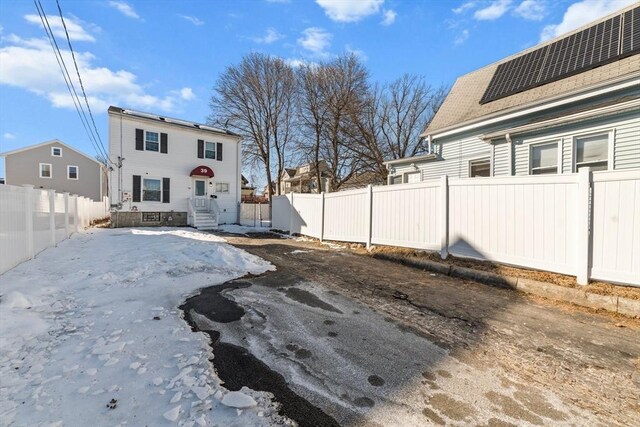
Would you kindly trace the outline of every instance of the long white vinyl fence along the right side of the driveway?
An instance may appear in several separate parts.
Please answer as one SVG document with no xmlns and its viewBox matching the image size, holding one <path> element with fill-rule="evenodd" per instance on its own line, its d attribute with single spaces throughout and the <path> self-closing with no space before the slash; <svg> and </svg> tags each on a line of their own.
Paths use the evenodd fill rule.
<svg viewBox="0 0 640 427">
<path fill-rule="evenodd" d="M 640 286 L 640 171 L 441 179 L 273 198 L 273 228 Z"/>
</svg>

